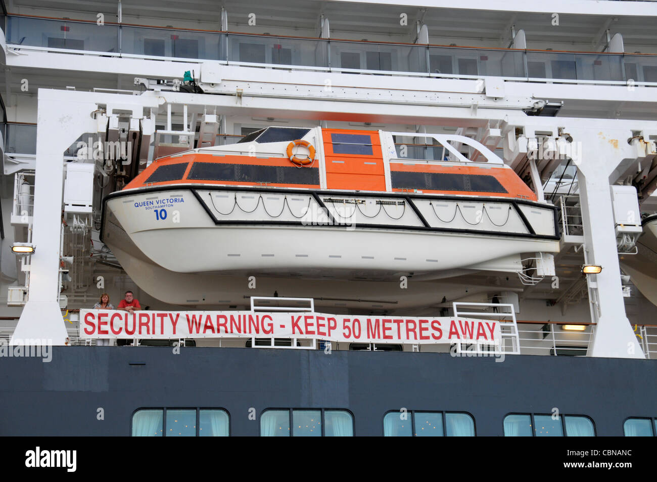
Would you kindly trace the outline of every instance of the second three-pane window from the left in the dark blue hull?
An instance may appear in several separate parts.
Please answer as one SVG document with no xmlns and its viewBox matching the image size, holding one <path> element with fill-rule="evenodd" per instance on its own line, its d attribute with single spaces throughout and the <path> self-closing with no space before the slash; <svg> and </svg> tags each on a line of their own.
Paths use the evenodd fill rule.
<svg viewBox="0 0 657 482">
<path fill-rule="evenodd" d="M 290 420 L 291 418 L 291 420 Z M 353 437 L 353 416 L 347 410 L 265 410 L 261 437 Z"/>
</svg>

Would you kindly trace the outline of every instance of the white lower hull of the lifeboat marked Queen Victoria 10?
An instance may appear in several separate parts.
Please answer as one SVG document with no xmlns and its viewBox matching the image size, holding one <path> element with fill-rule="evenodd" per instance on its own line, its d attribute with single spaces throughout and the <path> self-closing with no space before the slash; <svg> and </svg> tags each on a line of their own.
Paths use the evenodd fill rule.
<svg viewBox="0 0 657 482">
<path fill-rule="evenodd" d="M 554 209 L 509 199 L 194 185 L 120 191 L 106 199 L 103 214 L 102 240 L 158 299 L 163 285 L 179 286 L 182 275 L 189 275 L 187 285 L 203 279 L 223 293 L 240 286 L 242 296 L 253 295 L 246 279 L 256 276 L 288 278 L 271 285 L 294 290 L 281 296 L 327 297 L 335 283 L 342 285 L 335 297 L 350 298 L 355 291 L 350 296 L 344 281 L 351 281 L 348 289 L 358 285 L 359 298 L 369 291 L 380 298 L 390 284 L 398 299 L 401 276 L 418 282 L 517 272 L 521 253 L 558 251 Z M 435 295 L 436 286 L 429 283 L 428 293 Z M 175 298 L 204 302 L 199 295 Z"/>
</svg>

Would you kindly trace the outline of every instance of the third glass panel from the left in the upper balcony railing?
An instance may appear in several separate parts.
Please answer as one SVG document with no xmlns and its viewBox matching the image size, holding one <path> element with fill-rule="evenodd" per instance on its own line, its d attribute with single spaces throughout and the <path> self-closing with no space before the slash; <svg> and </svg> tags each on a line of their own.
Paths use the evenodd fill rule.
<svg viewBox="0 0 657 482">
<path fill-rule="evenodd" d="M 327 67 L 327 41 L 229 34 L 228 60 L 256 64 Z"/>
</svg>

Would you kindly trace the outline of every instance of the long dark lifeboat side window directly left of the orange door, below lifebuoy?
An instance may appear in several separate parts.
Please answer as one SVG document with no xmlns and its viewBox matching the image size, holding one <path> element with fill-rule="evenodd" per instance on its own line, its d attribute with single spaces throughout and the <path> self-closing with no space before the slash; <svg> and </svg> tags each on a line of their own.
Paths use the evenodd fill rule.
<svg viewBox="0 0 657 482">
<path fill-rule="evenodd" d="M 318 168 L 194 162 L 189 180 L 319 185 Z"/>
</svg>

